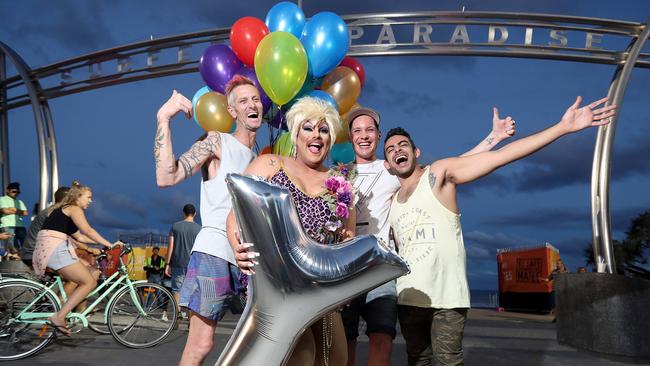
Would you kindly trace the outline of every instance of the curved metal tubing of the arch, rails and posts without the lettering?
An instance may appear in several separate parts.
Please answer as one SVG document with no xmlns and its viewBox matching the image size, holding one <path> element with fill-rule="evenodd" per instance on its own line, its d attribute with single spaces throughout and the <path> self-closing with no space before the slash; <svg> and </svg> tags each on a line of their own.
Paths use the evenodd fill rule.
<svg viewBox="0 0 650 366">
<path fill-rule="evenodd" d="M 348 54 L 352 56 L 384 56 L 384 55 L 464 55 L 492 57 L 521 57 L 537 59 L 554 59 L 576 62 L 590 62 L 616 65 L 617 70 L 610 85 L 610 103 L 620 106 L 631 71 L 634 67 L 650 68 L 650 54 L 641 53 L 641 49 L 650 35 L 650 21 L 647 23 L 625 22 L 610 19 L 564 16 L 555 14 L 524 14 L 496 12 L 406 12 L 378 13 L 343 16 L 352 31 L 361 31 L 364 26 L 413 25 L 429 27 L 432 25 L 490 26 L 488 43 L 455 43 L 455 42 L 420 42 L 414 39 L 412 43 L 383 43 L 380 39 L 375 44 L 353 45 Z M 526 39 L 525 44 L 508 44 L 494 42 L 492 27 L 543 28 L 559 31 L 582 31 L 592 34 L 610 34 L 631 38 L 630 45 L 625 51 L 603 50 L 595 48 L 566 47 L 566 42 L 560 45 L 532 44 Z M 383 29 L 383 28 L 382 28 Z M 465 29 L 466 30 L 466 29 Z M 391 30 L 392 32 L 392 30 Z M 165 77 L 170 75 L 196 72 L 197 60 L 185 60 L 181 57 L 182 49 L 195 44 L 223 43 L 228 40 L 229 28 L 221 28 L 203 32 L 160 38 L 138 42 L 119 47 L 93 52 L 74 57 L 35 70 L 30 70 L 25 62 L 7 45 L 0 42 L 0 165 L 3 182 L 9 179 L 7 111 L 31 104 L 36 120 L 36 132 L 39 144 L 39 159 L 41 163 L 41 197 L 39 204 L 44 207 L 48 197 L 48 182 L 51 181 L 51 192 L 58 188 L 58 159 L 56 153 L 56 138 L 47 101 L 52 98 L 80 93 L 87 90 L 113 86 L 145 79 Z M 355 34 L 355 36 L 358 34 Z M 361 37 L 361 36 L 359 36 Z M 356 37 L 356 38 L 359 38 Z M 419 36 L 418 36 L 419 37 Z M 526 33 L 528 37 L 528 33 Z M 351 37 L 351 39 L 356 39 Z M 414 36 L 415 38 L 415 36 Z M 428 34 L 427 34 L 428 39 Z M 532 39 L 532 31 L 531 31 Z M 177 47 L 178 62 L 152 66 L 151 59 L 161 50 Z M 587 46 L 585 46 L 587 47 Z M 6 78 L 4 54 L 12 60 L 17 76 Z M 130 58 L 139 54 L 147 54 L 147 67 L 130 68 Z M 153 56 L 152 56 L 153 55 Z M 126 60 L 126 67 L 121 63 Z M 116 61 L 118 72 L 109 75 L 95 75 L 90 72 L 93 65 L 102 62 Z M 59 85 L 42 89 L 40 80 L 60 74 L 71 75 L 74 70 L 89 69 L 89 78 L 75 82 L 62 80 Z M 27 94 L 7 98 L 6 90 L 25 85 Z M 592 165 L 591 203 L 594 259 L 599 272 L 616 271 L 613 258 L 611 239 L 610 210 L 609 210 L 609 180 L 612 148 L 618 118 L 609 126 L 600 127 L 595 142 L 594 160 Z M 51 162 L 51 175 L 48 176 L 48 154 Z"/>
</svg>

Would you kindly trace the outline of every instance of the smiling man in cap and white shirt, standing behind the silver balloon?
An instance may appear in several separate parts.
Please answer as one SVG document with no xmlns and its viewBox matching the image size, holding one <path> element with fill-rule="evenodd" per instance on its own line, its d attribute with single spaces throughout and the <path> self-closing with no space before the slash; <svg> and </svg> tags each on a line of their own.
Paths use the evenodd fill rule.
<svg viewBox="0 0 650 366">
<path fill-rule="evenodd" d="M 348 114 L 350 141 L 354 148 L 357 165 L 357 178 L 354 182 L 359 200 L 355 206 L 357 213 L 357 235 L 373 234 L 393 247 L 389 240 L 390 210 L 393 194 L 399 189 L 399 180 L 384 167 L 384 160 L 377 159 L 377 147 L 381 133 L 379 114 L 370 108 L 358 108 Z M 492 131 L 477 146 L 464 155 L 488 151 L 500 141 L 515 133 L 511 117 L 499 118 L 494 110 Z M 394 249 L 394 248 L 393 248 Z M 366 321 L 366 334 L 369 338 L 368 365 L 384 366 L 390 364 L 392 340 L 396 334 L 397 291 L 395 281 L 386 284 L 354 299 L 341 313 L 348 339 L 348 365 L 356 365 L 356 339 L 359 336 L 359 318 Z"/>
</svg>

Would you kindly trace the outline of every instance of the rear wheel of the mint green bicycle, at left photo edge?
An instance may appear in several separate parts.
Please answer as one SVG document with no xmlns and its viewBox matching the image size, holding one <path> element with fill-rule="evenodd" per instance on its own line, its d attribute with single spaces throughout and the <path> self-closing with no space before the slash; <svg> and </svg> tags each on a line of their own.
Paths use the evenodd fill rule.
<svg viewBox="0 0 650 366">
<path fill-rule="evenodd" d="M 30 282 L 0 283 L 0 360 L 17 360 L 30 356 L 54 338 L 53 327 L 16 319 L 43 291 L 43 286 Z M 59 303 L 52 294 L 46 292 L 28 311 L 55 313 L 59 311 Z"/>
</svg>

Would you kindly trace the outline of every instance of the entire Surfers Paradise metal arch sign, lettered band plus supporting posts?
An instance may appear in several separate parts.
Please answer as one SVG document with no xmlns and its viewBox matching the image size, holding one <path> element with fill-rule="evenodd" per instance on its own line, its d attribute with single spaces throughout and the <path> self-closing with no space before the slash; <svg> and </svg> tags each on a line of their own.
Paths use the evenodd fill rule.
<svg viewBox="0 0 650 366">
<path fill-rule="evenodd" d="M 412 12 L 343 17 L 352 56 L 457 55 L 553 59 L 615 65 L 610 85 L 612 104 L 622 105 L 634 67 L 650 68 L 642 53 L 650 20 L 635 23 L 551 14 L 499 12 Z M 8 180 L 7 111 L 32 104 L 41 162 L 41 197 L 58 188 L 56 139 L 47 101 L 68 94 L 117 84 L 197 71 L 199 52 L 228 41 L 230 29 L 152 39 L 93 52 L 31 70 L 0 42 L 0 166 Z M 621 45 L 623 45 L 621 47 Z M 5 57 L 19 75 L 5 77 Z M 8 97 L 7 90 L 26 86 L 28 93 Z M 38 111 L 37 111 L 38 110 Z M 599 272 L 615 273 L 609 220 L 611 151 L 617 118 L 601 127 L 592 169 L 592 229 Z M 46 142 L 47 141 L 47 142 Z M 47 151 L 46 151 L 47 150 Z M 49 160 L 48 153 L 49 152 Z M 51 164 L 51 169 L 48 168 Z M 51 191 L 49 191 L 51 182 Z M 48 191 L 50 194 L 48 194 Z"/>
</svg>

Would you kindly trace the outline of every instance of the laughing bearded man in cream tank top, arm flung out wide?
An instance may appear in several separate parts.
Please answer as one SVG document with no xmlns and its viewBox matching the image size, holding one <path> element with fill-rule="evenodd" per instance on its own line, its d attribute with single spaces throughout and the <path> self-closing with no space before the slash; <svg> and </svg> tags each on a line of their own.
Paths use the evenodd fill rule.
<svg viewBox="0 0 650 366">
<path fill-rule="evenodd" d="M 456 186 L 528 156 L 559 137 L 609 122 L 615 106 L 580 108 L 582 98 L 557 124 L 496 150 L 418 165 L 420 150 L 401 128 L 388 132 L 385 166 L 401 188 L 393 198 L 390 224 L 411 273 L 397 279 L 398 317 L 409 365 L 463 364 L 463 330 L 470 306 L 465 247 Z M 432 351 L 435 350 L 435 351 Z M 433 353 L 435 352 L 435 355 Z"/>
</svg>

